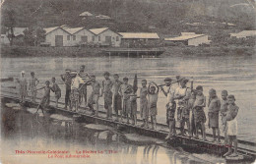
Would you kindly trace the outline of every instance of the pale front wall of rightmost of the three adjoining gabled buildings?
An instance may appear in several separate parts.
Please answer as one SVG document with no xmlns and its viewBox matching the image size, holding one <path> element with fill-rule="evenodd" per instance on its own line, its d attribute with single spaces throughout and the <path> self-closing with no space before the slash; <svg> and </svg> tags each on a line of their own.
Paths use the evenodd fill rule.
<svg viewBox="0 0 256 164">
<path fill-rule="evenodd" d="M 106 43 L 105 36 L 111 36 L 111 46 L 120 47 L 121 36 L 109 29 L 103 31 L 102 33 L 97 34 L 95 42 L 99 44 L 105 44 Z M 118 41 L 116 40 L 116 37 L 118 37 Z"/>
</svg>

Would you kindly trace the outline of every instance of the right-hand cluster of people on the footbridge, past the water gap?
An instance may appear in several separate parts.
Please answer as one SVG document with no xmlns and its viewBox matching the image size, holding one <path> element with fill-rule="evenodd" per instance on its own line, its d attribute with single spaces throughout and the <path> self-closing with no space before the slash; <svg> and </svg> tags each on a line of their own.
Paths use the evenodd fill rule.
<svg viewBox="0 0 256 164">
<path fill-rule="evenodd" d="M 176 135 L 175 111 L 177 111 L 177 121 L 180 125 L 180 136 L 185 136 L 184 126 L 186 124 L 188 137 L 198 139 L 198 132 L 201 130 L 203 140 L 206 140 L 205 123 L 207 121 L 204 108 L 208 106 L 208 126 L 213 130 L 213 142 L 220 143 L 219 118 L 222 118 L 222 127 L 224 132 L 224 143 L 228 141 L 228 152 L 224 156 L 237 156 L 237 120 L 236 116 L 239 107 L 236 106 L 234 95 L 228 95 L 226 90 L 222 91 L 222 100 L 217 96 L 214 88 L 209 90 L 209 100 L 206 103 L 206 96 L 203 94 L 203 86 L 198 85 L 196 89 L 187 87 L 189 80 L 183 78 L 177 81 L 179 86 L 172 88 L 172 80 L 164 80 L 167 90 L 162 86 L 160 89 L 167 97 L 166 103 L 166 122 L 169 126 L 169 134 L 166 139 Z M 218 135 L 218 137 L 217 137 Z M 231 153 L 231 147 L 234 143 L 234 152 Z"/>
</svg>

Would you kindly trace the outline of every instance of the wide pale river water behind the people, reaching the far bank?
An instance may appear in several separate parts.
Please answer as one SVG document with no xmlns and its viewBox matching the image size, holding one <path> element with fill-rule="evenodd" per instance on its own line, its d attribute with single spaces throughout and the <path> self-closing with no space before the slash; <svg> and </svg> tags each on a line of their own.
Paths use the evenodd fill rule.
<svg viewBox="0 0 256 164">
<path fill-rule="evenodd" d="M 129 78 L 132 84 L 134 75 L 138 75 L 139 86 L 143 79 L 163 83 L 164 78 L 175 78 L 177 75 L 194 80 L 196 85 L 203 85 L 204 94 L 208 98 L 210 88 L 215 88 L 221 98 L 221 91 L 226 89 L 229 94 L 234 94 L 238 112 L 238 137 L 244 140 L 256 141 L 255 139 L 255 99 L 256 99 L 256 59 L 255 56 L 204 56 L 204 57 L 181 57 L 168 58 L 121 58 L 121 57 L 92 57 L 92 58 L 3 58 L 1 60 L 2 78 L 19 78 L 22 70 L 26 71 L 29 80 L 30 72 L 42 85 L 51 77 L 56 77 L 62 88 L 64 98 L 65 88 L 60 80 L 60 74 L 64 74 L 66 68 L 79 70 L 81 65 L 86 65 L 90 74 L 96 75 L 96 80 L 103 80 L 103 72 L 119 74 L 120 80 Z M 15 85 L 17 83 L 2 83 Z M 188 83 L 188 86 L 190 83 Z M 39 91 L 41 93 L 42 91 Z M 158 122 L 165 122 L 165 97 L 160 92 L 158 101 Z M 102 98 L 100 104 L 103 104 Z M 206 108 L 207 112 L 208 109 Z M 210 132 L 209 130 L 207 130 Z"/>
</svg>

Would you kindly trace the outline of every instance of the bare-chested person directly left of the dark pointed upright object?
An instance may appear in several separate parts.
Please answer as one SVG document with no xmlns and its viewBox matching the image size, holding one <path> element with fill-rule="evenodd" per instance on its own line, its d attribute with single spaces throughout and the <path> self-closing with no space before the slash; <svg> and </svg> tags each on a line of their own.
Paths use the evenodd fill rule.
<svg viewBox="0 0 256 164">
<path fill-rule="evenodd" d="M 119 94 L 122 97 L 122 111 L 121 122 L 123 122 L 123 116 L 127 118 L 127 124 L 129 123 L 129 114 L 131 113 L 130 95 L 133 93 L 133 86 L 128 83 L 128 78 L 123 78 L 123 83 L 120 85 Z"/>
</svg>

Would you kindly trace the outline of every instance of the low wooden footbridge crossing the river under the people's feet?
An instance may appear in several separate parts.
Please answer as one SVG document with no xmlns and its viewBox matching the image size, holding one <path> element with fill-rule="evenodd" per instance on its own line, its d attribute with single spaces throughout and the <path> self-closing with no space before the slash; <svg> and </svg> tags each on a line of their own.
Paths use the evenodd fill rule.
<svg viewBox="0 0 256 164">
<path fill-rule="evenodd" d="M 7 102 L 19 102 L 17 93 L 1 90 L 1 103 L 4 105 Z M 32 103 L 31 100 L 27 99 L 25 106 L 36 107 L 38 103 Z M 51 101 L 48 109 L 49 114 L 57 113 L 67 117 L 76 118 L 75 120 L 79 123 L 87 122 L 100 125 L 107 125 L 116 130 L 123 129 L 127 133 L 139 134 L 147 137 L 156 137 L 164 139 L 168 134 L 167 125 L 157 124 L 157 131 L 141 128 L 142 120 L 138 119 L 137 125 L 125 124 L 120 122 L 114 122 L 112 120 L 105 119 L 105 112 L 99 111 L 98 117 L 92 116 L 91 112 L 87 108 L 80 107 L 80 111 L 83 112 L 73 112 L 65 110 L 64 103 L 60 102 L 59 107 L 55 107 L 54 102 Z M 78 117 L 79 116 L 79 117 Z M 177 128 L 179 130 L 179 128 Z M 207 139 L 213 138 L 211 134 L 207 134 Z M 224 140 L 224 137 L 221 138 Z M 191 137 L 176 136 L 167 141 L 167 144 L 173 146 L 182 146 L 185 150 L 192 151 L 193 153 L 208 152 L 210 154 L 215 154 L 218 156 L 223 156 L 227 151 L 227 146 L 222 143 L 214 143 L 210 141 L 203 141 L 201 139 L 195 139 Z M 246 140 L 238 139 L 238 153 L 242 156 L 241 159 L 236 159 L 239 161 L 254 161 L 256 157 L 256 143 Z"/>
</svg>

